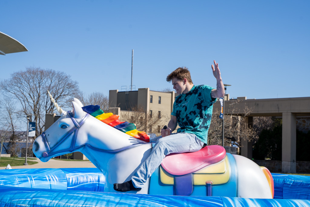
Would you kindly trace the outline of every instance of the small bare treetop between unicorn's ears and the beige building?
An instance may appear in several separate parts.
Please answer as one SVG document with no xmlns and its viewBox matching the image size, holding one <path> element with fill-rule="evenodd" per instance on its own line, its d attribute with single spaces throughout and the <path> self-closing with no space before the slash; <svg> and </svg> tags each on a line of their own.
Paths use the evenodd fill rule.
<svg viewBox="0 0 310 207">
<path fill-rule="evenodd" d="M 101 92 L 93 92 L 87 98 L 80 100 L 84 106 L 99 105 L 100 109 L 107 111 L 109 109 L 109 98 Z"/>
</svg>

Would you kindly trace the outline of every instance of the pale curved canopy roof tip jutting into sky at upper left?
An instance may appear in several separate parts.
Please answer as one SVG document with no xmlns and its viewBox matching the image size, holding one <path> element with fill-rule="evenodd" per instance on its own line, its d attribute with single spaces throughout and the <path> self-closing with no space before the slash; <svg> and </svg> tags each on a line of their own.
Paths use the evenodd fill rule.
<svg viewBox="0 0 310 207">
<path fill-rule="evenodd" d="M 0 55 L 6 55 L 13 52 L 25 52 L 27 48 L 16 39 L 0 32 Z"/>
</svg>

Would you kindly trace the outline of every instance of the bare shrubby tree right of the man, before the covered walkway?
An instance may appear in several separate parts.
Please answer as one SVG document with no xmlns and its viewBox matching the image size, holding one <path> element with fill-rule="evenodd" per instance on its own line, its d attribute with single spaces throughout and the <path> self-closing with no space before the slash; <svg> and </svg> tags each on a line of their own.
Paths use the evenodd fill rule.
<svg viewBox="0 0 310 207">
<path fill-rule="evenodd" d="M 257 138 L 257 132 L 248 126 L 246 119 L 251 109 L 245 107 L 244 111 L 237 111 L 240 100 L 234 100 L 228 105 L 228 115 L 224 117 L 224 142 L 229 145 L 241 147 L 241 139 L 253 140 Z M 208 145 L 222 144 L 222 119 L 219 118 L 216 109 L 212 114 L 212 120 L 208 132 Z"/>
</svg>

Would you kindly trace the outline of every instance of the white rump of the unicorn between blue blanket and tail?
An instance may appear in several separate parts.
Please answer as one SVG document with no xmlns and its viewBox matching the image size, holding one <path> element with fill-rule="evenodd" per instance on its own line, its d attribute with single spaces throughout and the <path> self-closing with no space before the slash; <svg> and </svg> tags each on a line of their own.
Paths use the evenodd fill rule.
<svg viewBox="0 0 310 207">
<path fill-rule="evenodd" d="M 240 155 L 233 155 L 237 167 L 237 197 L 272 198 L 268 180 L 255 162 Z"/>
</svg>

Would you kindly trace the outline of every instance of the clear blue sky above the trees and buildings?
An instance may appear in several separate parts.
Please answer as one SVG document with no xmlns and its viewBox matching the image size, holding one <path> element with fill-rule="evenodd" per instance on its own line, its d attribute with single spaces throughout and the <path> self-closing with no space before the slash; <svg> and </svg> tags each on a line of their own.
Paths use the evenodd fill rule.
<svg viewBox="0 0 310 207">
<path fill-rule="evenodd" d="M 29 52 L 0 56 L 1 79 L 35 66 L 63 71 L 89 94 L 131 84 L 171 88 L 179 66 L 230 97 L 308 97 L 310 1 L 0 1 L 0 31 Z"/>
</svg>

